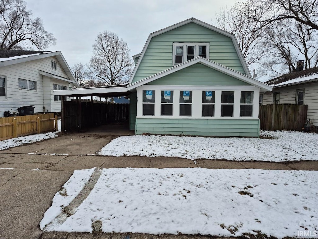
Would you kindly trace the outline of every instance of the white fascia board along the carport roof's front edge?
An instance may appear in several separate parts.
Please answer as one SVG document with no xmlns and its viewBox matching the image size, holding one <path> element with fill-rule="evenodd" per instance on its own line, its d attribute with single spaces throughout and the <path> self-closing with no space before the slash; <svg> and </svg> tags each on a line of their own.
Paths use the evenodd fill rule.
<svg viewBox="0 0 318 239">
<path fill-rule="evenodd" d="M 75 90 L 53 91 L 54 95 L 85 95 L 85 94 L 103 94 L 103 93 L 121 93 L 128 92 L 127 87 L 114 88 L 81 88 Z"/>
</svg>

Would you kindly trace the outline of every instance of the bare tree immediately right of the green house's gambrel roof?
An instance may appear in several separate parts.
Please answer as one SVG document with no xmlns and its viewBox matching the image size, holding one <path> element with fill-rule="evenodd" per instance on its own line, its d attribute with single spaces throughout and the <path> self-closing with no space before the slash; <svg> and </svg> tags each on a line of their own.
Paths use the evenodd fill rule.
<svg viewBox="0 0 318 239">
<path fill-rule="evenodd" d="M 248 9 L 243 12 L 242 5 L 242 2 L 237 2 L 231 8 L 225 7 L 216 14 L 216 21 L 218 27 L 235 35 L 247 66 L 250 66 L 258 63 L 265 54 L 265 49 L 260 47 L 265 30 L 260 28 L 259 22 L 246 17 L 251 13 Z"/>
</svg>

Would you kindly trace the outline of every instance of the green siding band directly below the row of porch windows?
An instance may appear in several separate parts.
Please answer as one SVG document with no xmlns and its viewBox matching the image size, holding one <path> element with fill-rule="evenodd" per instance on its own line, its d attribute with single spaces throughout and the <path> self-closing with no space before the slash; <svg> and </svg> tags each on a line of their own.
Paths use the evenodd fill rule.
<svg viewBox="0 0 318 239">
<path fill-rule="evenodd" d="M 259 137 L 259 119 L 136 119 L 135 133 Z"/>
</svg>

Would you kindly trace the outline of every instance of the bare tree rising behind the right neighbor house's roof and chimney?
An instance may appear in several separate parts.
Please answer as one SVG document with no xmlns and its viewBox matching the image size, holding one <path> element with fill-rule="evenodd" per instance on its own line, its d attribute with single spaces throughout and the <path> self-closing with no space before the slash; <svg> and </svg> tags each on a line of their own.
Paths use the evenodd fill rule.
<svg viewBox="0 0 318 239">
<path fill-rule="evenodd" d="M 261 73 L 276 77 L 296 71 L 296 61 L 304 60 L 304 68 L 317 66 L 317 34 L 308 36 L 307 26 L 293 19 L 283 19 L 266 26 L 263 48 L 266 57 Z"/>
</svg>

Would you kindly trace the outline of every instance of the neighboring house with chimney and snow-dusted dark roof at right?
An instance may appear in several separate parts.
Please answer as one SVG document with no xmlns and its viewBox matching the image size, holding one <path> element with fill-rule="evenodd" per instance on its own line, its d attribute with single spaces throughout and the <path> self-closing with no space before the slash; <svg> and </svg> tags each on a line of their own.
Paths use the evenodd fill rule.
<svg viewBox="0 0 318 239">
<path fill-rule="evenodd" d="M 318 126 L 318 67 L 303 69 L 298 61 L 296 70 L 265 82 L 273 92 L 261 93 L 259 103 L 308 105 L 307 119 Z"/>
</svg>

